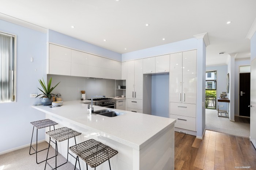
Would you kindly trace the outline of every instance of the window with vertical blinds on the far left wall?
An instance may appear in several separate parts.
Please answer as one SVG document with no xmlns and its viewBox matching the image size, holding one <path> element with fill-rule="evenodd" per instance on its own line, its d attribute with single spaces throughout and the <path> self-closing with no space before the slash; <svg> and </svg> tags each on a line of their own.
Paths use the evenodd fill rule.
<svg viewBox="0 0 256 170">
<path fill-rule="evenodd" d="M 14 102 L 16 93 L 16 36 L 0 32 L 0 102 Z"/>
</svg>

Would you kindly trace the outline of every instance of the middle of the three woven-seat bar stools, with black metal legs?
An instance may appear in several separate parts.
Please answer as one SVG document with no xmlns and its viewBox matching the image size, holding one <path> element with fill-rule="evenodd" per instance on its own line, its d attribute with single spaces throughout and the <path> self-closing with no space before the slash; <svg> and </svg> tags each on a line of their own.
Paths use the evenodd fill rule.
<svg viewBox="0 0 256 170">
<path fill-rule="evenodd" d="M 47 160 L 48 160 L 48 153 L 49 153 L 49 147 L 50 147 L 50 143 L 49 143 L 48 152 L 47 152 L 46 161 L 45 161 L 45 169 L 46 169 L 46 164 L 48 164 L 52 169 L 57 169 L 57 167 L 60 167 L 60 166 L 62 166 L 65 163 L 68 162 L 68 155 L 67 155 L 67 161 L 65 163 L 57 166 L 57 150 L 56 150 L 56 148 L 57 148 L 57 141 L 61 142 L 61 141 L 65 141 L 65 140 L 68 139 L 68 145 L 69 145 L 69 139 L 70 138 L 73 138 L 73 137 L 75 138 L 76 136 L 78 136 L 78 135 L 80 135 L 82 133 L 79 133 L 79 132 L 77 132 L 75 130 L 72 130 L 72 129 L 69 129 L 67 127 L 62 127 L 62 128 L 56 129 L 56 130 L 52 130 L 52 131 L 46 132 L 46 134 L 49 135 L 50 139 L 53 138 L 55 140 L 55 168 L 50 166 L 50 164 L 47 162 Z M 75 144 L 76 144 L 76 138 L 75 138 Z M 68 154 L 71 155 L 71 153 L 69 153 L 69 152 L 68 152 Z M 71 156 L 74 157 L 73 155 L 71 155 Z M 81 170 L 79 160 L 78 160 L 78 163 L 79 163 L 79 168 Z M 76 165 L 75 165 L 75 169 L 76 169 Z"/>
</svg>

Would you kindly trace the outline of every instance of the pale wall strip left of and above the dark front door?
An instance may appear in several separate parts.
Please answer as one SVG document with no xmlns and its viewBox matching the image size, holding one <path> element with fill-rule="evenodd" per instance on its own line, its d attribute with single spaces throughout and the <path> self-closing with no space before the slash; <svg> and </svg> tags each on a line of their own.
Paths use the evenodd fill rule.
<svg viewBox="0 0 256 170">
<path fill-rule="evenodd" d="M 235 115 L 238 115 L 238 98 L 239 98 L 239 66 L 251 65 L 251 60 L 235 61 Z"/>
</svg>

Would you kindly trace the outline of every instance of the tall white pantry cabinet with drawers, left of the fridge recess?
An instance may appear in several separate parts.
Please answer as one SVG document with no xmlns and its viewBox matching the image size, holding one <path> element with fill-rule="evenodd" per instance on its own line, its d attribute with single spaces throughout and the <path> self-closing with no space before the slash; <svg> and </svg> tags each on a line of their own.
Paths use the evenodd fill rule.
<svg viewBox="0 0 256 170">
<path fill-rule="evenodd" d="M 143 59 L 127 62 L 127 110 L 142 113 Z"/>
</svg>

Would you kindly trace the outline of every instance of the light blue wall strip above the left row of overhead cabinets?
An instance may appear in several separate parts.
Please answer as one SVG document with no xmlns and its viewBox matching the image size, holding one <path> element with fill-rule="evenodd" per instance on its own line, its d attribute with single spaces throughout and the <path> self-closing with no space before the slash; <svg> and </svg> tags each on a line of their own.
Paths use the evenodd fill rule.
<svg viewBox="0 0 256 170">
<path fill-rule="evenodd" d="M 67 46 L 70 48 L 74 48 L 77 50 L 85 51 L 91 54 L 107 57 L 107 58 L 118 60 L 118 61 L 122 60 L 122 55 L 117 52 L 110 51 L 110 50 L 107 50 L 106 48 L 102 48 L 99 46 L 95 46 L 93 44 L 76 39 L 74 37 L 64 35 L 62 33 L 53 31 L 51 29 L 48 30 L 47 38 L 48 38 L 48 41 L 51 43 L 60 44 L 63 46 Z"/>
</svg>

